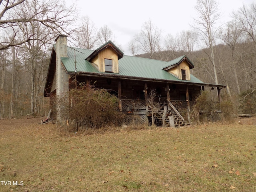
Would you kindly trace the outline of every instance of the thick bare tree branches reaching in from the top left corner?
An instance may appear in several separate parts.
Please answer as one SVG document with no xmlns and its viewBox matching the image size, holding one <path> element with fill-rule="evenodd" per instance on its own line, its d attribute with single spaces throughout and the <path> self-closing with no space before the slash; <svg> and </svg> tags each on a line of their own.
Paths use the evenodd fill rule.
<svg viewBox="0 0 256 192">
<path fill-rule="evenodd" d="M 0 34 L 3 36 L 12 30 L 12 38 L 0 42 L 0 50 L 10 46 L 17 46 L 34 40 L 34 34 L 27 34 L 26 38 L 17 38 L 20 35 L 19 26 L 29 22 L 38 22 L 51 29 L 53 33 L 68 33 L 69 24 L 74 21 L 75 7 L 65 8 L 62 0 L 37 0 L 37 9 L 30 9 L 34 0 L 0 0 Z M 27 7 L 27 5 L 29 5 Z M 22 8 L 27 7 L 27 10 Z M 24 12 L 30 12 L 24 17 Z M 8 30 L 7 30 L 8 29 Z"/>
</svg>

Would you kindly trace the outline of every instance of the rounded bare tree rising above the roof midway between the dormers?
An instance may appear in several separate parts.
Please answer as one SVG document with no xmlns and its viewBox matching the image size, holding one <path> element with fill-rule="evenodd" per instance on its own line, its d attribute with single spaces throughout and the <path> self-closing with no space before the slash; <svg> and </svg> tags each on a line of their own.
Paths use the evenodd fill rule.
<svg viewBox="0 0 256 192">
<path fill-rule="evenodd" d="M 144 22 L 139 34 L 136 34 L 135 41 L 138 42 L 140 49 L 148 53 L 150 58 L 154 58 L 161 40 L 162 31 L 156 27 L 151 19 Z"/>
</svg>

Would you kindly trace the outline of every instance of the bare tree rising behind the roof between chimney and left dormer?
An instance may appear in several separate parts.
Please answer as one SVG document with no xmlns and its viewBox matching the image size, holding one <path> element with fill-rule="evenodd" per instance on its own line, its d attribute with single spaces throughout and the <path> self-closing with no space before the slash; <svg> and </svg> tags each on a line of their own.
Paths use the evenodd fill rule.
<svg viewBox="0 0 256 192">
<path fill-rule="evenodd" d="M 97 28 L 88 16 L 82 17 L 81 26 L 75 30 L 72 39 L 76 47 L 83 49 L 93 49 L 97 41 Z"/>
</svg>

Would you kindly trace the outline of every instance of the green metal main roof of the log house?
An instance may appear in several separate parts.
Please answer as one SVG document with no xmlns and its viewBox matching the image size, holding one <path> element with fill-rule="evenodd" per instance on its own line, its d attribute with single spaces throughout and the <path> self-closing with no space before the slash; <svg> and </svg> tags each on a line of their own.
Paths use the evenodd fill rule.
<svg viewBox="0 0 256 192">
<path fill-rule="evenodd" d="M 86 50 L 79 48 L 70 48 L 68 47 L 68 57 L 62 57 L 61 61 L 66 69 L 67 73 L 74 74 L 75 70 L 75 57 L 74 53 L 76 50 L 76 69 L 77 72 L 80 73 L 90 73 L 90 74 L 98 74 L 98 75 L 112 75 L 112 76 L 120 76 L 120 78 L 137 78 L 137 79 L 152 79 L 152 80 L 162 80 L 162 81 L 175 81 L 175 82 L 183 82 L 183 83 L 195 83 L 195 84 L 205 84 L 198 78 L 194 77 L 190 74 L 189 80 L 180 80 L 176 78 L 174 75 L 169 72 L 163 70 L 163 66 L 169 65 L 170 62 L 153 60 L 148 58 L 140 58 L 135 56 L 127 56 L 124 55 L 123 58 L 118 60 L 119 64 L 119 73 L 107 73 L 107 72 L 99 72 L 92 63 L 88 62 L 86 58 L 94 52 L 94 50 Z M 172 60 L 172 63 L 176 61 L 180 61 L 184 56 Z M 212 84 L 214 85 L 214 84 Z"/>
</svg>

